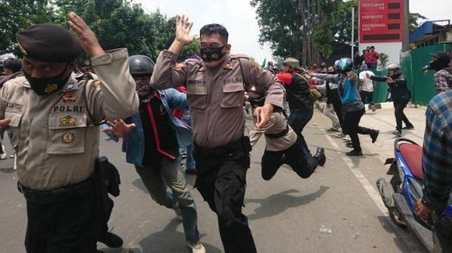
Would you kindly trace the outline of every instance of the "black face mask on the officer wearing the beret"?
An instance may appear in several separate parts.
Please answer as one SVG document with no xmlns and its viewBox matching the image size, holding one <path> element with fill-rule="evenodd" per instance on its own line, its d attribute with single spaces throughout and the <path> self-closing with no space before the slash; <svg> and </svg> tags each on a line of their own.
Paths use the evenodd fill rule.
<svg viewBox="0 0 452 253">
<path fill-rule="evenodd" d="M 64 73 L 66 73 L 69 64 L 70 63 L 66 65 L 66 67 L 60 74 L 55 75 L 54 77 L 35 78 L 31 77 L 31 75 L 28 73 L 24 73 L 24 75 L 28 80 L 28 84 L 30 84 L 30 88 L 35 91 L 37 95 L 48 95 L 54 93 L 55 91 L 59 91 L 64 86 L 64 84 L 66 84 L 71 75 L 68 75 L 64 79 L 62 78 Z"/>
</svg>

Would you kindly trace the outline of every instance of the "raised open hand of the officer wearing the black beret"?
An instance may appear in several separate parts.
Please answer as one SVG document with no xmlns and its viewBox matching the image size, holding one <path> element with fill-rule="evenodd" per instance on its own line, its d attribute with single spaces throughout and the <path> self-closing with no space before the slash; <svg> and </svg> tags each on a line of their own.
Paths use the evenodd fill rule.
<svg viewBox="0 0 452 253">
<path fill-rule="evenodd" d="M 74 12 L 70 12 L 68 15 L 68 24 L 71 29 L 77 34 L 80 44 L 87 55 L 96 57 L 98 55 L 104 55 L 104 50 L 100 47 L 99 41 L 96 38 L 94 32 L 84 22 L 84 20 L 76 15 Z"/>
</svg>

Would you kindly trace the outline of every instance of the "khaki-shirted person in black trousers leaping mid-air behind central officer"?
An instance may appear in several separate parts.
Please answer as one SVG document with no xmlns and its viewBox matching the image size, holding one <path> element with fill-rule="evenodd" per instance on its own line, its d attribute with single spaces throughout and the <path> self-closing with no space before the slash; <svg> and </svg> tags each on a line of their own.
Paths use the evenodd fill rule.
<svg viewBox="0 0 452 253">
<path fill-rule="evenodd" d="M 253 108 L 256 108 L 262 106 L 265 96 L 248 92 L 246 99 Z M 253 120 L 256 123 L 255 117 Z M 289 165 L 300 178 L 309 178 L 316 170 L 317 165 L 325 165 L 326 157 L 322 147 L 317 148 L 315 156 L 309 158 L 300 156 L 303 149 L 300 137 L 287 124 L 280 112 L 271 113 L 269 123 L 265 127 L 260 128 L 255 125 L 255 129 L 250 131 L 251 147 L 254 147 L 262 134 L 265 135 L 266 143 L 261 162 L 264 180 L 271 180 L 283 164 Z"/>
</svg>

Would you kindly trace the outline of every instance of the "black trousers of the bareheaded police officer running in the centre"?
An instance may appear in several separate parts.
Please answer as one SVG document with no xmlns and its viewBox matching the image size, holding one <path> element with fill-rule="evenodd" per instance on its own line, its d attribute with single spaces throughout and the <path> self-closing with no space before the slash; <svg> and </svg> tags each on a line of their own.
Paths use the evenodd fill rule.
<svg viewBox="0 0 452 253">
<path fill-rule="evenodd" d="M 197 182 L 195 187 L 217 214 L 219 234 L 225 253 L 257 252 L 248 218 L 242 214 L 248 153 L 232 151 L 208 156 L 195 145 Z"/>
</svg>

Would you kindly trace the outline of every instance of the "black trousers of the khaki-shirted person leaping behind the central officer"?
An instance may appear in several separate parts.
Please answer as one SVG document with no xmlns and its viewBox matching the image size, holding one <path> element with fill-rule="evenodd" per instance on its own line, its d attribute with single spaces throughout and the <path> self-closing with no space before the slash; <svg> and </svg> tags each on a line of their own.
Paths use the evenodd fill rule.
<svg viewBox="0 0 452 253">
<path fill-rule="evenodd" d="M 300 156 L 303 151 L 302 149 L 301 140 L 298 138 L 289 149 L 282 151 L 265 150 L 261 163 L 262 178 L 264 180 L 273 178 L 282 163 L 289 165 L 300 178 L 309 178 L 314 170 L 316 170 L 318 160 L 314 157 L 305 158 L 304 156 Z M 283 160 L 282 156 L 285 156 Z"/>
</svg>

